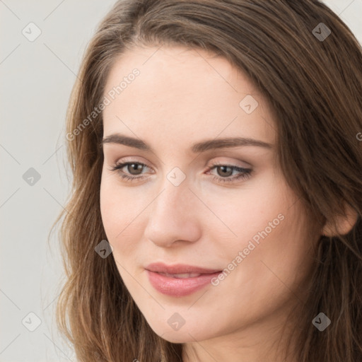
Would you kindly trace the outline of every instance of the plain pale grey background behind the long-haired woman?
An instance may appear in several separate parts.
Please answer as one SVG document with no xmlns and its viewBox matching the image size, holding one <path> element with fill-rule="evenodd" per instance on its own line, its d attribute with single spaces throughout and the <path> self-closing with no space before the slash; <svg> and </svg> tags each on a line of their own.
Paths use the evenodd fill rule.
<svg viewBox="0 0 362 362">
<path fill-rule="evenodd" d="M 325 2 L 361 42 L 362 0 Z M 95 27 L 114 3 L 0 0 L 0 362 L 76 361 L 54 324 L 63 273 L 57 234 L 50 245 L 47 236 L 71 181 L 63 142 L 71 88 Z M 41 30 L 33 42 L 22 33 L 36 34 L 30 22 Z M 25 182 L 29 168 L 40 175 L 33 185 Z"/>
</svg>

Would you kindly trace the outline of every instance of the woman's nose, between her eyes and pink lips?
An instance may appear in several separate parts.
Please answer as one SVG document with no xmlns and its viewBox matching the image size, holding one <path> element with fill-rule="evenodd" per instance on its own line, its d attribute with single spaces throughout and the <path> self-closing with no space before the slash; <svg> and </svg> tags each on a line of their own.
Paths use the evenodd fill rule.
<svg viewBox="0 0 362 362">
<path fill-rule="evenodd" d="M 188 188 L 187 182 L 179 186 L 163 183 L 149 211 L 145 238 L 159 247 L 199 240 L 201 218 L 197 217 L 198 203 L 201 202 Z"/>
</svg>

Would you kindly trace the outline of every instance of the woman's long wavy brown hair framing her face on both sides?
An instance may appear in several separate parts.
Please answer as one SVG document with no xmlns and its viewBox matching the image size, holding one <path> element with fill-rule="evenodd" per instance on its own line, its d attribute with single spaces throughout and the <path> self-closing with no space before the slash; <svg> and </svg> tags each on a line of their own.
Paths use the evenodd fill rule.
<svg viewBox="0 0 362 362">
<path fill-rule="evenodd" d="M 317 0 L 122 0 L 100 23 L 71 94 L 65 141 L 73 182 L 54 223 L 62 219 L 66 271 L 57 324 L 78 361 L 182 361 L 182 344 L 152 331 L 113 255 L 95 252 L 106 239 L 103 118 L 89 115 L 102 103 L 110 67 L 132 45 L 182 45 L 226 58 L 271 104 L 281 170 L 310 220 L 333 223 L 346 205 L 356 211 L 349 233 L 320 237 L 295 354 L 299 362 L 361 362 L 362 52 Z M 323 332 L 312 324 L 320 312 L 332 321 Z"/>
</svg>

